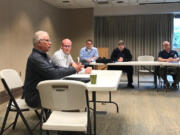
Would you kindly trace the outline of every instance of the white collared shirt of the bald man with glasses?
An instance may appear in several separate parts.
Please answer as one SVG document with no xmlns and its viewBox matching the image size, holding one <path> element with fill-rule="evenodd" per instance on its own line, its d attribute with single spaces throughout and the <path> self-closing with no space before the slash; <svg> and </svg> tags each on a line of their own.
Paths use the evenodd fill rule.
<svg viewBox="0 0 180 135">
<path fill-rule="evenodd" d="M 52 60 L 56 63 L 56 65 L 62 67 L 69 67 L 70 64 L 74 62 L 71 55 L 65 54 L 62 49 L 59 49 L 54 53 Z"/>
</svg>

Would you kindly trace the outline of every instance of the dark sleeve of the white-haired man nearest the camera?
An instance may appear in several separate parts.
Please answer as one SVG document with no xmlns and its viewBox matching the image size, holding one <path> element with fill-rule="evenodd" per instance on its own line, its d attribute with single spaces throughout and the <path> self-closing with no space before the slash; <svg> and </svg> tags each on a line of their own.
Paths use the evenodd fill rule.
<svg viewBox="0 0 180 135">
<path fill-rule="evenodd" d="M 69 68 L 57 66 L 51 59 L 46 60 L 42 57 L 30 59 L 29 65 L 35 73 L 39 74 L 43 79 L 60 79 L 65 76 L 76 73 L 74 67 Z"/>
</svg>

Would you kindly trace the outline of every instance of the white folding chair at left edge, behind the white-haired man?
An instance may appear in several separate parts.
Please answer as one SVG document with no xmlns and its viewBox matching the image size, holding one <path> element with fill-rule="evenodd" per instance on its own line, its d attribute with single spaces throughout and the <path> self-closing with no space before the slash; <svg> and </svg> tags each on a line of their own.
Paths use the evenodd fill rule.
<svg viewBox="0 0 180 135">
<path fill-rule="evenodd" d="M 27 130 L 29 131 L 29 134 L 33 135 L 32 131 L 33 131 L 33 129 L 35 127 L 37 127 L 37 125 L 39 124 L 40 121 L 34 126 L 33 129 L 31 129 L 22 112 L 33 110 L 38 115 L 37 108 L 30 108 L 25 103 L 24 99 L 15 99 L 13 94 L 11 93 L 11 91 L 13 89 L 23 87 L 23 83 L 22 83 L 22 80 L 21 80 L 20 76 L 13 69 L 4 69 L 4 70 L 0 71 L 0 77 L 1 77 L 1 81 L 3 83 L 3 86 L 4 86 L 5 90 L 7 91 L 8 95 L 10 97 L 9 103 L 8 103 L 8 106 L 7 106 L 7 109 L 6 109 L 6 114 L 5 114 L 5 117 L 4 117 L 4 121 L 3 121 L 3 124 L 2 124 L 2 127 L 1 127 L 0 135 L 2 135 L 4 133 L 4 131 L 6 131 L 11 126 L 13 126 L 12 128 L 14 130 L 19 116 L 21 117 L 21 119 L 24 122 Z M 11 123 L 9 126 L 6 126 L 6 122 L 7 122 L 8 115 L 9 115 L 10 111 L 11 112 L 16 112 L 17 114 L 16 114 L 14 122 Z M 39 116 L 39 118 L 40 118 L 40 116 Z"/>
</svg>

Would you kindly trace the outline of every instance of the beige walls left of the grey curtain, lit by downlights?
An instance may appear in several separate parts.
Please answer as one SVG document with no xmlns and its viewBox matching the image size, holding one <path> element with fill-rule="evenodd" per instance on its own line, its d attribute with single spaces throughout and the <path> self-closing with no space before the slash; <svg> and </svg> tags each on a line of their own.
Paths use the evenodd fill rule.
<svg viewBox="0 0 180 135">
<path fill-rule="evenodd" d="M 93 37 L 92 21 L 92 9 L 60 10 L 40 0 L 0 1 L 0 70 L 16 69 L 24 80 L 32 35 L 37 30 L 49 32 L 53 43 L 50 55 L 59 49 L 60 40 L 67 36 L 73 40 L 73 56 L 78 55 L 83 41 Z M 82 29 L 78 28 L 81 25 Z M 0 91 L 2 89 L 0 85 Z"/>
</svg>

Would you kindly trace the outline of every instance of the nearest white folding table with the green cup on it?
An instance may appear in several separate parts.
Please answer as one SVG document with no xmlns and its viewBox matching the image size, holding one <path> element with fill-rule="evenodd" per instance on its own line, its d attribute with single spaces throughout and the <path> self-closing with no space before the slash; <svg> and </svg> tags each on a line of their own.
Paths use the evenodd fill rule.
<svg viewBox="0 0 180 135">
<path fill-rule="evenodd" d="M 96 84 L 86 83 L 87 90 L 92 92 L 94 135 L 96 135 L 96 92 L 117 91 L 121 79 L 120 70 L 92 70 L 91 74 L 97 74 Z M 68 77 L 88 78 L 89 74 L 73 74 Z"/>
</svg>

